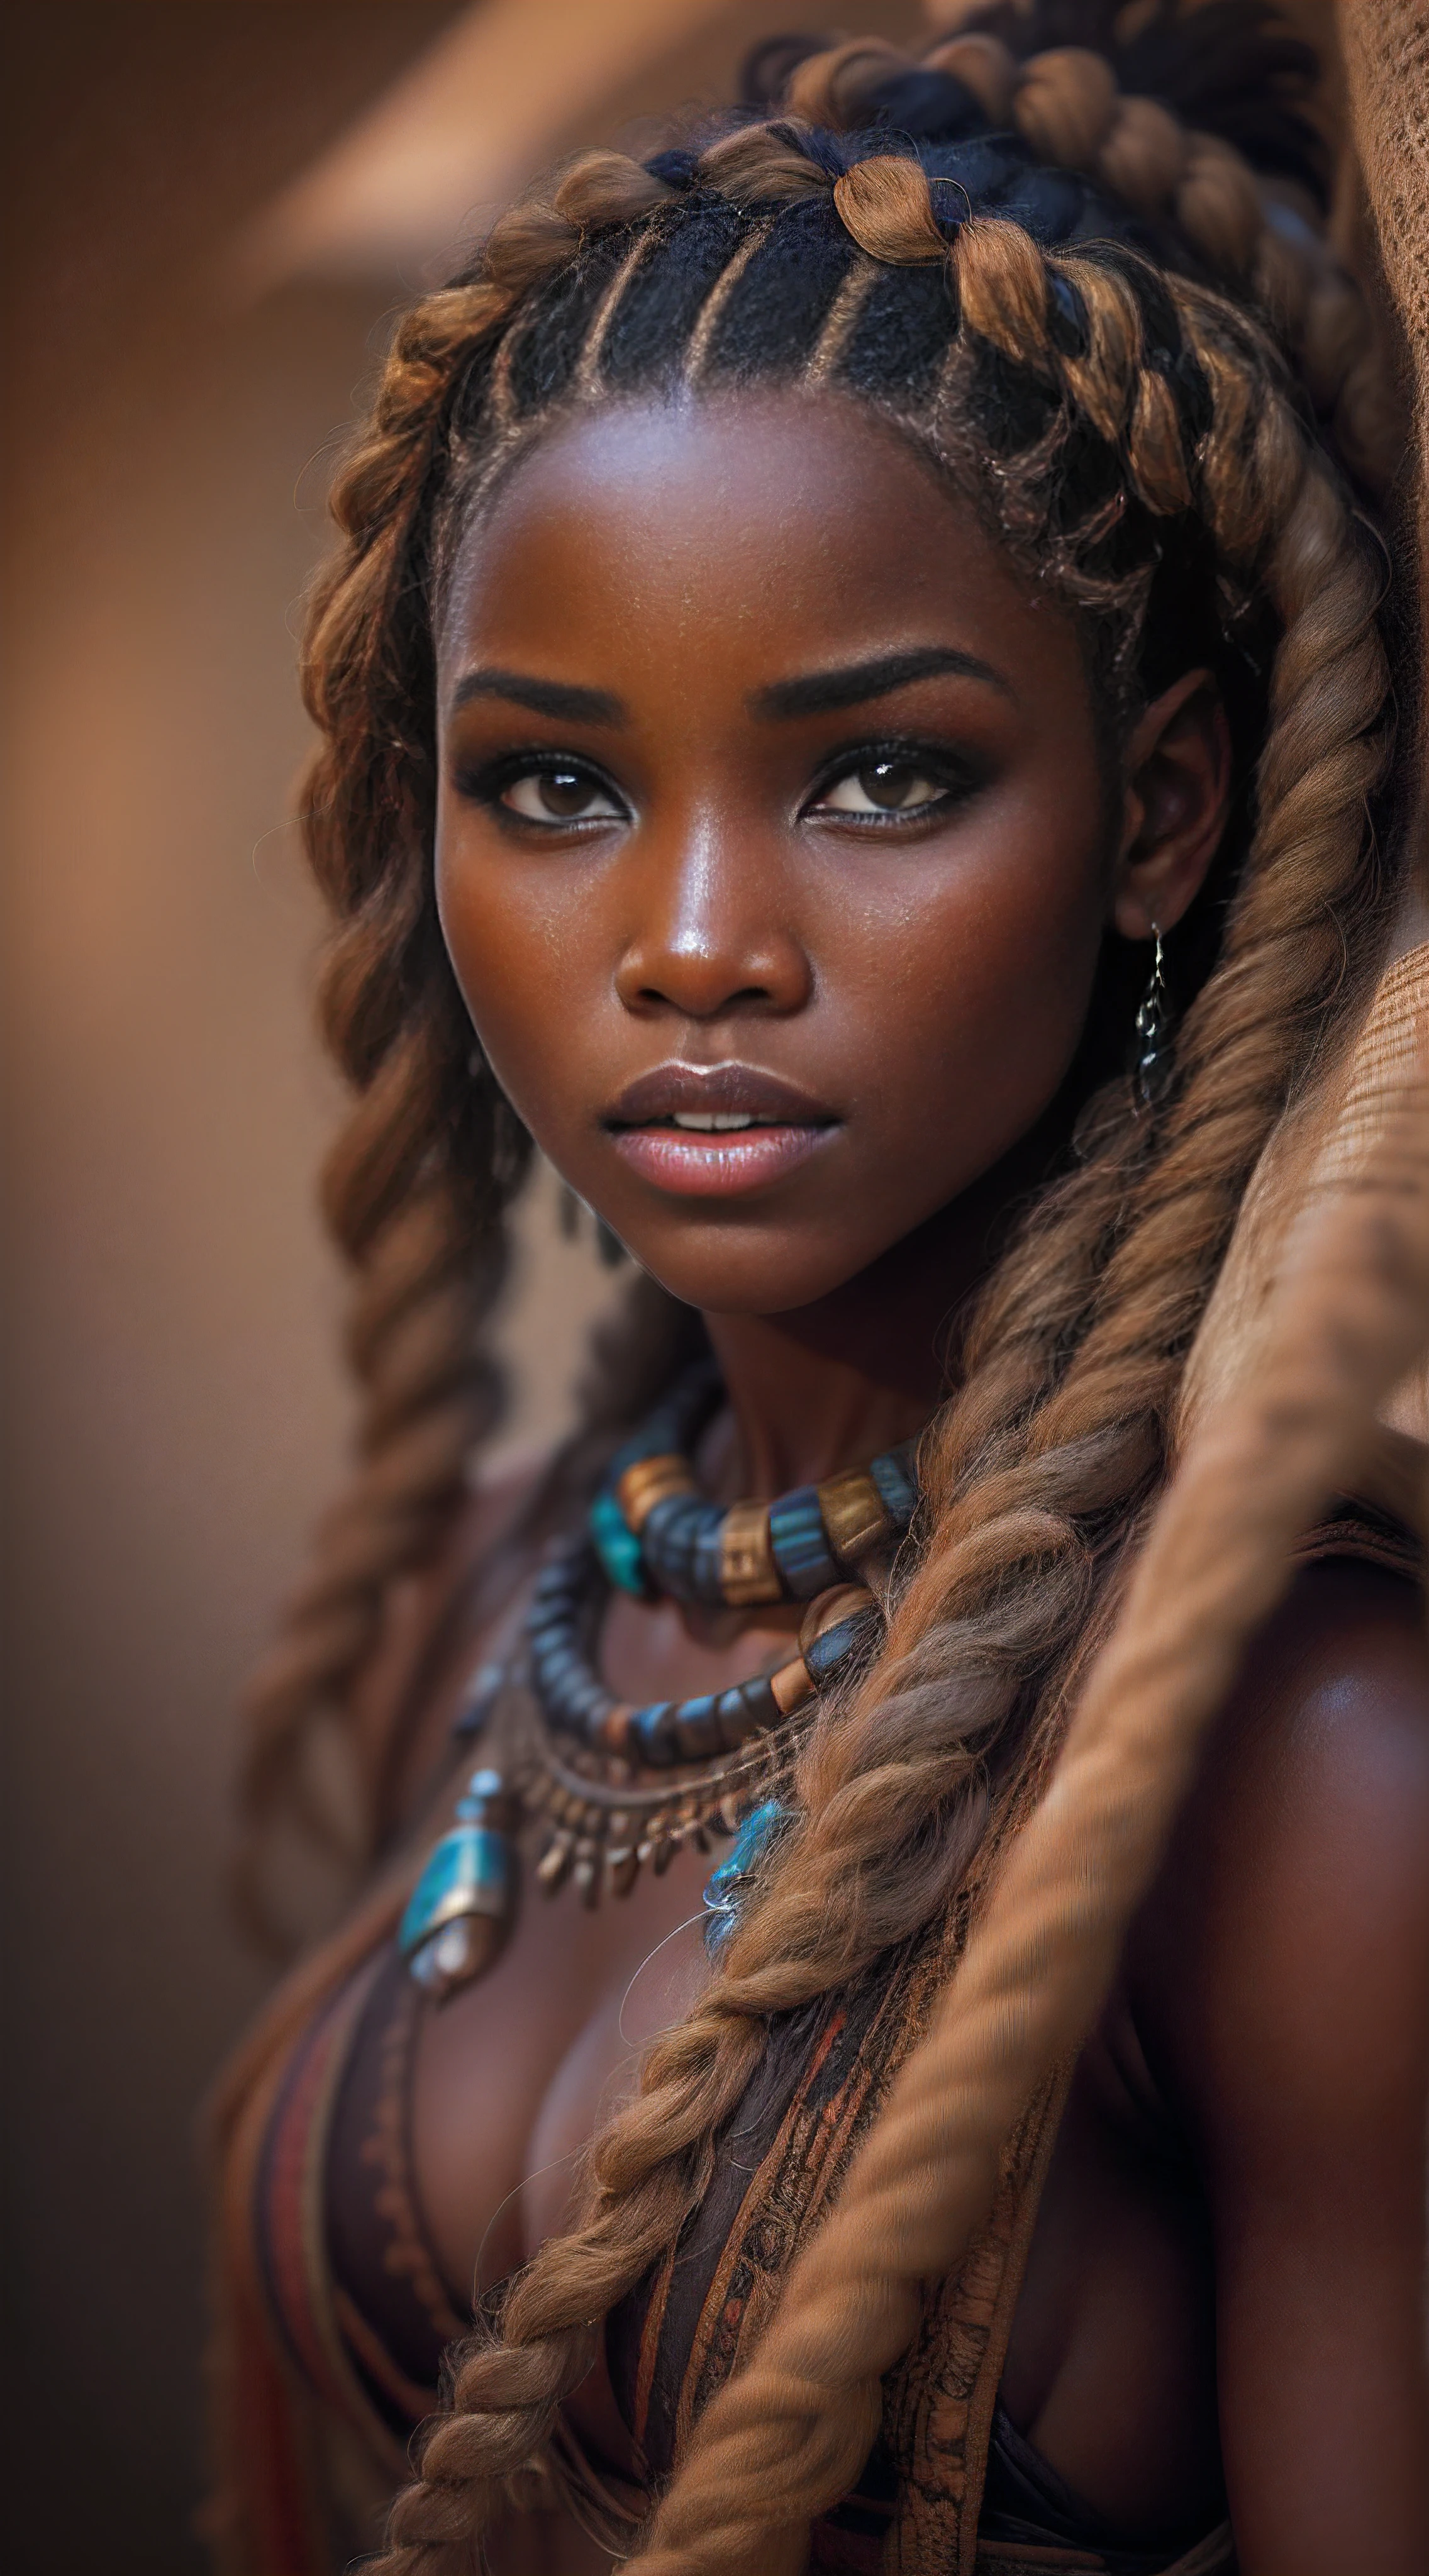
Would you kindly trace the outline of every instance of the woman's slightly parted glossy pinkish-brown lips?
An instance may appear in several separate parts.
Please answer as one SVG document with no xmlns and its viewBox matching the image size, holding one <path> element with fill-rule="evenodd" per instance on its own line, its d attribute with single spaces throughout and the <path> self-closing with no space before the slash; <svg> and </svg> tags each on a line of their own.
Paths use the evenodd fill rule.
<svg viewBox="0 0 1429 2576">
<path fill-rule="evenodd" d="M 644 1180 L 680 1195 L 765 1188 L 819 1151 L 837 1110 L 754 1064 L 657 1064 L 602 1126 Z"/>
</svg>

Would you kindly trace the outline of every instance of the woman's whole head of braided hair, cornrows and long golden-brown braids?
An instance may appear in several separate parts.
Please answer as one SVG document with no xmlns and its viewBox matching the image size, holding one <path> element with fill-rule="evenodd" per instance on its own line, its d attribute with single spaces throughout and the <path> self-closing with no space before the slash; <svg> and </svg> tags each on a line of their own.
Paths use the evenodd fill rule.
<svg viewBox="0 0 1429 2576">
<path fill-rule="evenodd" d="M 327 1213 L 368 1412 L 252 1698 L 255 1811 L 291 1788 L 497 1409 L 479 1327 L 528 1141 L 435 922 L 433 629 L 461 531 L 525 448 L 621 399 L 790 384 L 865 404 L 1076 613 L 1107 744 L 1179 639 L 1179 667 L 1223 680 L 1244 770 L 1184 933 L 1174 1095 L 1135 1121 L 1107 1082 L 1002 1260 L 924 1443 L 886 1646 L 821 1718 L 801 1824 L 721 1976 L 597 2141 L 579 2228 L 512 2285 L 500 2339 L 458 2354 L 384 2576 L 469 2566 L 600 2321 L 695 2205 L 770 2017 L 865 1973 L 986 1868 L 1164 1479 L 1246 1180 L 1375 956 L 1388 662 L 1347 477 L 1367 492 L 1393 469 L 1393 410 L 1316 224 L 1313 59 L 1254 0 L 1184 18 L 1156 0 L 1128 46 L 1117 15 L 942 0 L 922 59 L 788 39 L 708 134 L 577 157 L 402 322 L 337 484 L 309 848 L 335 912 L 324 1028 L 358 1090 Z M 659 1309 L 644 1283 L 631 1409 L 669 1365 Z"/>
</svg>

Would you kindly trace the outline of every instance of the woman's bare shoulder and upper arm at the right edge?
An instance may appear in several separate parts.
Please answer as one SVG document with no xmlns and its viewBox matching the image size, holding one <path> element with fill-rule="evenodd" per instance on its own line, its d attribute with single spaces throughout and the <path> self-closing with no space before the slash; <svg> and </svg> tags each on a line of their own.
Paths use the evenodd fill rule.
<svg viewBox="0 0 1429 2576">
<path fill-rule="evenodd" d="M 1421 1597 L 1316 1566 L 1220 1713 L 1128 1947 L 1205 2195 L 1246 2576 L 1429 2566 L 1426 1857 Z"/>
</svg>

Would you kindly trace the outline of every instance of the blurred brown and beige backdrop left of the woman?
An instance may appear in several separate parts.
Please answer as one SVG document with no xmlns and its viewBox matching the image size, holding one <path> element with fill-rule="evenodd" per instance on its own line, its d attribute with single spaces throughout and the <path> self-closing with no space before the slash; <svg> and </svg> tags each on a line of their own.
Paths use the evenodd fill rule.
<svg viewBox="0 0 1429 2576">
<path fill-rule="evenodd" d="M 221 1883 L 232 1705 L 348 1427 L 286 824 L 330 461 L 463 214 L 827 15 L 5 13 L 8 2576 L 201 2563 L 193 2110 L 265 1981 Z M 515 1437 L 602 1293 L 538 1221 Z"/>
</svg>

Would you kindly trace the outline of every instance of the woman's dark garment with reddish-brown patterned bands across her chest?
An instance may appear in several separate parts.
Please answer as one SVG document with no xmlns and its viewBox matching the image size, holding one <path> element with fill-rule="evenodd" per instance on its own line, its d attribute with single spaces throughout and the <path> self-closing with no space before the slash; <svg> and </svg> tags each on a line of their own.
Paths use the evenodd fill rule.
<svg viewBox="0 0 1429 2576">
<path fill-rule="evenodd" d="M 1421 1569 L 1419 1543 L 1362 1507 L 1316 1530 L 1298 1553 L 1408 1577 Z M 1017 1826 L 1035 1790 L 1030 1780 L 1002 1832 Z M 698 2411 L 739 2365 L 798 2244 L 837 2195 L 955 1968 L 973 1893 L 875 1976 L 775 2025 L 700 2208 L 610 2316 L 610 2375 L 649 2481 L 677 2463 Z M 242 2576 L 330 2576 L 376 2545 L 381 2496 L 407 2473 L 409 2434 L 438 2403 L 443 2349 L 466 2324 L 440 2280 L 412 2172 L 422 2004 L 391 1942 L 399 1901 L 373 1909 L 366 1945 L 348 1942 L 342 1978 L 294 2020 L 245 2102 L 229 2166 L 250 2249 L 229 2293 L 245 2329 L 229 2421 L 242 2419 L 250 2445 L 242 2476 L 257 2540 L 227 2558 L 221 2530 L 216 2540 L 219 2563 Z M 1169 2561 L 1102 2540 L 1089 2509 L 996 2406 L 1069 2079 L 1071 2069 L 1058 2069 L 1027 2105 L 968 2259 L 927 2293 L 919 2336 L 886 2380 L 881 2439 L 857 2491 L 816 2527 L 819 2576 L 1231 2576 L 1228 2527 Z M 358 2501 L 335 2519 L 340 2452 Z M 605 2514 L 600 2463 L 582 2476 L 569 2434 L 556 2468 L 559 2488 Z"/>
</svg>

